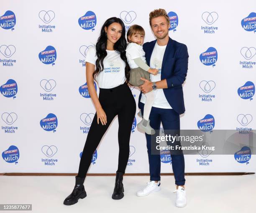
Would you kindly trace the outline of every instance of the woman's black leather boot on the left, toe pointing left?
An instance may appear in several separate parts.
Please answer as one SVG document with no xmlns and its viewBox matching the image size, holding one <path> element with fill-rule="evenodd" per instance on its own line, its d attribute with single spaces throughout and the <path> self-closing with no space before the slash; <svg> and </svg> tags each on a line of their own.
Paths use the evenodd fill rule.
<svg viewBox="0 0 256 213">
<path fill-rule="evenodd" d="M 79 198 L 85 198 L 86 197 L 86 191 L 84 190 L 84 179 L 85 178 L 76 178 L 76 185 L 74 186 L 74 189 L 72 193 L 67 196 L 67 198 L 64 200 L 63 204 L 64 205 L 73 205 L 77 203 Z"/>
</svg>

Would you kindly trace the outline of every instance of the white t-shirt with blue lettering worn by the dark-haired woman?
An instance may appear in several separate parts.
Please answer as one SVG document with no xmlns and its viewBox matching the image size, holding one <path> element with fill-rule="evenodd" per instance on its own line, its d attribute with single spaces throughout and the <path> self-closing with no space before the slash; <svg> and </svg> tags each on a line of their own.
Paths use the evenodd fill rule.
<svg viewBox="0 0 256 213">
<path fill-rule="evenodd" d="M 103 60 L 104 70 L 95 76 L 95 80 L 102 89 L 110 89 L 125 83 L 125 62 L 115 50 L 106 50 L 107 56 Z M 86 54 L 86 62 L 95 65 L 96 70 L 96 46 L 89 48 Z"/>
</svg>

